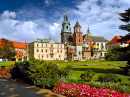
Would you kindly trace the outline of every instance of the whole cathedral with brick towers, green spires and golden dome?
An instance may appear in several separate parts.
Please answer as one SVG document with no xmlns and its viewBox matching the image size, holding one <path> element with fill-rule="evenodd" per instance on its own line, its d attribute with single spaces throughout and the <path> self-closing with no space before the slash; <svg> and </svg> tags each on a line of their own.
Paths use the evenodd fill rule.
<svg viewBox="0 0 130 97">
<path fill-rule="evenodd" d="M 74 33 L 71 32 L 68 15 L 64 15 L 61 29 L 61 43 L 65 45 L 66 60 L 104 59 L 107 53 L 107 43 L 104 37 L 92 36 L 89 30 L 83 35 L 82 27 L 77 21 Z"/>
</svg>

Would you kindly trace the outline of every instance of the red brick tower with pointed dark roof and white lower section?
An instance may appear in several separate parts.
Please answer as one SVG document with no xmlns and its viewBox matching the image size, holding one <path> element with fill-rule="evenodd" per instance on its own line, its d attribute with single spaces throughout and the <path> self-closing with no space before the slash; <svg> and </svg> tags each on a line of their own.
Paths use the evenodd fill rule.
<svg viewBox="0 0 130 97">
<path fill-rule="evenodd" d="M 74 26 L 73 45 L 76 47 L 78 60 L 82 60 L 82 46 L 83 46 L 82 27 L 80 26 L 78 21 Z"/>
</svg>

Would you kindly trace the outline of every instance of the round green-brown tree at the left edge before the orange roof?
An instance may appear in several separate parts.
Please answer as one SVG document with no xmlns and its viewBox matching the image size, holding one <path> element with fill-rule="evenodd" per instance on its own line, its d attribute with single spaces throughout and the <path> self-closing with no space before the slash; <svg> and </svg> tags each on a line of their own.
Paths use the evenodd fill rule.
<svg viewBox="0 0 130 97">
<path fill-rule="evenodd" d="M 16 51 L 13 45 L 13 42 L 2 38 L 1 39 L 2 46 L 0 47 L 0 57 L 6 59 L 12 59 L 16 55 Z"/>
</svg>

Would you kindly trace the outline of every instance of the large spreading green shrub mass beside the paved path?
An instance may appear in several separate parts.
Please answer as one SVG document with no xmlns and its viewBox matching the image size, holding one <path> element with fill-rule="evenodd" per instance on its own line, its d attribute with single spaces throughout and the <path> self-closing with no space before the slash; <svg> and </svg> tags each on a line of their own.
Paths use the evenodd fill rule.
<svg viewBox="0 0 130 97">
<path fill-rule="evenodd" d="M 11 76 L 13 79 L 21 78 L 26 83 L 39 87 L 52 88 L 58 82 L 58 73 L 59 69 L 56 64 L 31 59 L 30 61 L 16 62 Z"/>
</svg>

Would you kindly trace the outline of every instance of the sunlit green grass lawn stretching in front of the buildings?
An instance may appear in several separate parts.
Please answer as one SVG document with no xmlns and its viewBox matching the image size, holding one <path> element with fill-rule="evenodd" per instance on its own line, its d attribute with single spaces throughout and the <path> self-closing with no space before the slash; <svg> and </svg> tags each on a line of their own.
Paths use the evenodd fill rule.
<svg viewBox="0 0 130 97">
<path fill-rule="evenodd" d="M 114 73 L 122 79 L 123 84 L 130 85 L 130 81 L 128 80 L 130 76 L 125 75 L 123 69 L 120 68 L 120 66 L 122 67 L 126 66 L 126 63 L 124 61 L 88 60 L 88 61 L 64 62 L 62 60 L 53 60 L 47 62 L 59 64 L 59 68 L 64 68 L 67 65 L 72 65 L 73 67 L 72 70 L 70 71 L 70 75 L 77 77 L 77 79 L 80 79 L 80 75 L 84 73 L 87 69 L 91 69 L 95 72 L 95 76 L 93 77 L 92 81 L 96 81 L 99 75 Z M 12 66 L 14 65 L 14 63 L 15 63 L 14 61 L 0 62 L 0 66 Z"/>
</svg>

